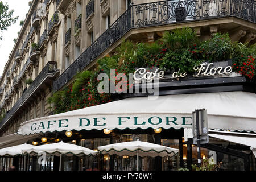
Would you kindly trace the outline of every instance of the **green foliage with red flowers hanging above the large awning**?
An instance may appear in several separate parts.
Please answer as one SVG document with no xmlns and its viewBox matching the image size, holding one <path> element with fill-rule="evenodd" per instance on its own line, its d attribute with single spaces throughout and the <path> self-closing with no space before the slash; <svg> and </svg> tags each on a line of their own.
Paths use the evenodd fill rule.
<svg viewBox="0 0 256 182">
<path fill-rule="evenodd" d="M 94 71 L 78 73 L 69 88 L 56 92 L 49 98 L 49 102 L 55 106 L 56 114 L 112 101 L 111 94 L 100 94 L 97 90 L 100 83 L 97 76 L 106 73 L 110 78 L 113 76 L 110 69 L 114 69 L 115 75 L 125 73 L 126 76 L 142 67 L 147 68 L 147 71 L 162 68 L 192 75 L 195 72 L 193 67 L 203 61 L 224 61 L 232 58 L 237 64 L 236 67 L 239 67 L 236 69 L 233 65 L 235 71 L 239 72 L 242 69 L 240 67 L 244 67 L 249 69 L 249 73 L 243 69 L 241 74 L 249 78 L 255 75 L 255 45 L 248 47 L 247 44 L 232 43 L 228 34 L 218 33 L 212 39 L 200 42 L 191 28 L 179 28 L 164 32 L 163 38 L 154 43 L 123 41 L 115 51 L 113 56 L 98 60 Z M 242 65 L 243 62 L 246 62 L 246 65 Z M 117 82 L 119 81 L 115 80 L 114 84 Z M 129 88 L 132 83 L 125 81 L 125 84 L 126 88 L 121 90 Z"/>
</svg>

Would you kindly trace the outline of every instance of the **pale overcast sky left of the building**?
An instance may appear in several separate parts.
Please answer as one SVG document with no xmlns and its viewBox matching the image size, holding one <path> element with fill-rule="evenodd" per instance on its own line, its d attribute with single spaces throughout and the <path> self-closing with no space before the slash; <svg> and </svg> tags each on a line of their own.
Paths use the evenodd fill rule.
<svg viewBox="0 0 256 182">
<path fill-rule="evenodd" d="M 0 32 L 3 39 L 0 40 L 0 76 L 3 73 L 3 68 L 8 61 L 9 54 L 13 50 L 13 39 L 18 38 L 18 31 L 22 28 L 19 25 L 21 20 L 25 20 L 26 14 L 30 9 L 28 2 L 30 0 L 1 0 L 4 4 L 7 2 L 9 10 L 14 10 L 14 16 L 19 16 L 15 24 L 8 27 L 7 31 Z"/>
</svg>

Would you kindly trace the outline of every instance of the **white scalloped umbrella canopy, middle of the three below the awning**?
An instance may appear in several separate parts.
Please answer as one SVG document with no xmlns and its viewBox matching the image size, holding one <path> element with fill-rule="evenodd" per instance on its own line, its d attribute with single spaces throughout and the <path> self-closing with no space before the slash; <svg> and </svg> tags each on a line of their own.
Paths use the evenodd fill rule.
<svg viewBox="0 0 256 182">
<path fill-rule="evenodd" d="M 29 155 L 40 155 L 43 152 L 46 152 L 47 155 L 66 155 L 66 156 L 89 156 L 89 155 L 97 155 L 97 151 L 90 150 L 89 148 L 85 148 L 82 146 L 77 146 L 76 144 L 70 143 L 51 143 L 44 144 L 42 146 L 34 146 L 32 148 L 27 148 L 26 150 L 22 150 L 22 154 Z"/>
</svg>

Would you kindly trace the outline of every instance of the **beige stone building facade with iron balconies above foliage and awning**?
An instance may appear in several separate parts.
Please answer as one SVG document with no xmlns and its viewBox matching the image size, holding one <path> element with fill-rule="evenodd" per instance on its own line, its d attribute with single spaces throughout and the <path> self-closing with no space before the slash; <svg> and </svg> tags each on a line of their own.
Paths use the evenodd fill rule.
<svg viewBox="0 0 256 182">
<path fill-rule="evenodd" d="M 228 32 L 232 41 L 254 44 L 255 6 L 242 0 L 34 0 L 0 80 L 0 137 L 51 115 L 53 92 L 113 55 L 124 39 L 154 42 L 164 31 L 192 27 L 201 40 Z"/>
</svg>

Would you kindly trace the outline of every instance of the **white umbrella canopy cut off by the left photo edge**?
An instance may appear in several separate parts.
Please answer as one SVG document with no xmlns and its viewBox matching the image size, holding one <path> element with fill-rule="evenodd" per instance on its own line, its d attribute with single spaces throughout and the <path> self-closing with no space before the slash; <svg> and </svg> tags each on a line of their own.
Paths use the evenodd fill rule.
<svg viewBox="0 0 256 182">
<path fill-rule="evenodd" d="M 32 144 L 19 144 L 18 146 L 12 146 L 7 148 L 2 148 L 0 150 L 0 156 L 16 156 L 16 155 L 22 155 L 22 150 L 30 150 L 32 147 Z"/>
</svg>

